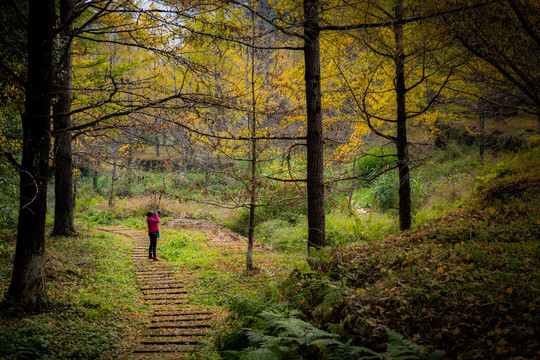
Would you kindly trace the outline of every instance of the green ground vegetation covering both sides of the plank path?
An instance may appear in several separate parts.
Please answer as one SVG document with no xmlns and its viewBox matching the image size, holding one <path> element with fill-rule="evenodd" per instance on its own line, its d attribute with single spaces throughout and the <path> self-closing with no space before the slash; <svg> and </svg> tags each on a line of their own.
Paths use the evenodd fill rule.
<svg viewBox="0 0 540 360">
<path fill-rule="evenodd" d="M 245 233 L 247 212 L 204 203 L 226 203 L 230 193 L 219 189 L 234 193 L 239 184 L 219 174 L 141 170 L 119 178 L 121 195 L 109 208 L 108 177 L 100 176 L 95 187 L 92 176 L 81 175 L 80 233 L 47 243 L 50 303 L 41 314 L 3 313 L 0 335 L 8 341 L 0 358 L 101 359 L 127 352 L 149 309 L 134 284 L 128 239 L 93 229 L 145 231 L 146 211 L 158 208 L 158 250 L 189 284 L 190 302 L 228 314 L 194 357 L 435 359 L 444 352 L 462 359 L 534 358 L 540 147 L 535 136 L 527 144 L 487 153 L 483 165 L 474 145 L 451 142 L 433 150 L 414 169 L 415 226 L 405 233 L 397 226 L 394 172 L 352 192 L 333 185 L 326 217 L 331 246 L 309 259 L 305 205 L 261 208 L 252 272 L 244 270 L 244 239 L 230 231 Z M 357 171 L 382 164 L 372 161 L 358 161 Z M 15 238 L 13 222 L 3 225 L 0 295 Z"/>
</svg>

